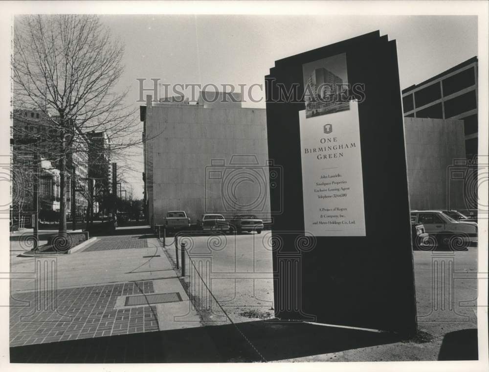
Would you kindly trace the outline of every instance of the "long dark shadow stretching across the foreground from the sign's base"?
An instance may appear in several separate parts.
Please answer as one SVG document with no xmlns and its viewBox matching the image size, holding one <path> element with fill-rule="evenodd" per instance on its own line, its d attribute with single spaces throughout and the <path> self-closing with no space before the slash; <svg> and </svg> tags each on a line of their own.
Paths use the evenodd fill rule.
<svg viewBox="0 0 489 372">
<path fill-rule="evenodd" d="M 14 347 L 10 362 L 265 362 L 400 340 L 390 333 L 256 321 Z"/>
</svg>

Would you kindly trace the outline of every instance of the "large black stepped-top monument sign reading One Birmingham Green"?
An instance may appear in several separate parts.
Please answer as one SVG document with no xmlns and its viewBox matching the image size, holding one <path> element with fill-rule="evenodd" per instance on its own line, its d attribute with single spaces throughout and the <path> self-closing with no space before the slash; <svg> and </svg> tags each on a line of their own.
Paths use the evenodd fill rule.
<svg viewBox="0 0 489 372">
<path fill-rule="evenodd" d="M 413 334 L 416 298 L 395 41 L 372 32 L 266 76 L 275 316 Z"/>
</svg>

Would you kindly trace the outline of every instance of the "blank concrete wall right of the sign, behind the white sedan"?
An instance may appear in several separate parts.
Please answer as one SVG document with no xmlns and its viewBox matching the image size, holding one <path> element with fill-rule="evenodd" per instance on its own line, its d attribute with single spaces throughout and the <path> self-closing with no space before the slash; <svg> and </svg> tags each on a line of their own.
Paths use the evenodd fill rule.
<svg viewBox="0 0 489 372">
<path fill-rule="evenodd" d="M 404 117 L 411 209 L 466 209 L 463 182 L 450 179 L 465 159 L 464 122 Z"/>
</svg>

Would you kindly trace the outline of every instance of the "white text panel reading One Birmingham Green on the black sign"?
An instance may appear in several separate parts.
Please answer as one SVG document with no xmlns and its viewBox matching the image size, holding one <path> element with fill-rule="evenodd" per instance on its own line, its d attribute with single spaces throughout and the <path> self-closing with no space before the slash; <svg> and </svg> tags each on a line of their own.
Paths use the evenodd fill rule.
<svg viewBox="0 0 489 372">
<path fill-rule="evenodd" d="M 299 111 L 304 231 L 366 236 L 358 104 L 306 118 Z"/>
</svg>

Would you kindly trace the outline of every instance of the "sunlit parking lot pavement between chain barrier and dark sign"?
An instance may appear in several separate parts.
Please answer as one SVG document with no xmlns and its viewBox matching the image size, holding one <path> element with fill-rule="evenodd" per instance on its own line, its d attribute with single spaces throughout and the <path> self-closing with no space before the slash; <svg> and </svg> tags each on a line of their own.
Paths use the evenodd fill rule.
<svg viewBox="0 0 489 372">
<path fill-rule="evenodd" d="M 184 280 L 203 324 L 216 326 L 273 318 L 269 234 L 266 231 L 179 237 L 179 246 L 185 243 L 188 253 Z M 169 247 L 165 252 L 175 264 L 173 242 L 173 237 L 166 239 Z M 181 266 L 180 252 L 179 261 Z"/>
</svg>

